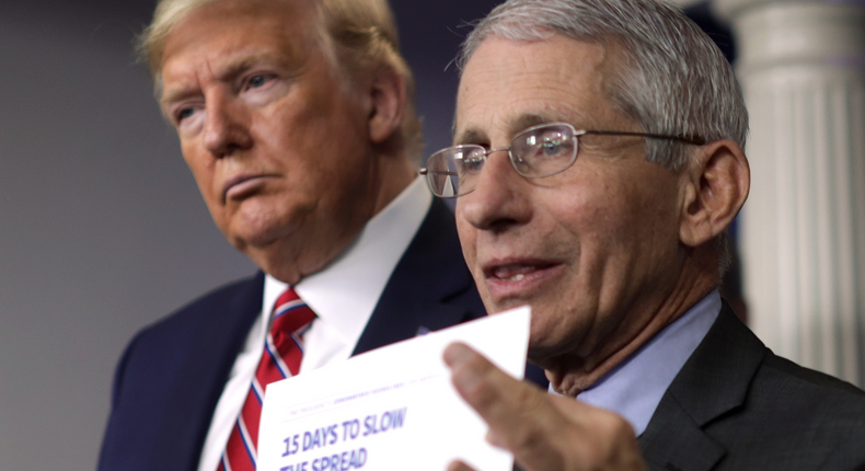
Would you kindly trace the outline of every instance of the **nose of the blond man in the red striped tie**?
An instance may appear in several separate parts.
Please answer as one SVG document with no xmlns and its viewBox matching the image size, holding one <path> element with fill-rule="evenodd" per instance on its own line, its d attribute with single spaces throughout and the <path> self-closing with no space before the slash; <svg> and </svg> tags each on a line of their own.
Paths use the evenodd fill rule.
<svg viewBox="0 0 865 471">
<path fill-rule="evenodd" d="M 215 92 L 205 104 L 204 145 L 221 159 L 252 147 L 250 115 L 242 103 Z"/>
</svg>

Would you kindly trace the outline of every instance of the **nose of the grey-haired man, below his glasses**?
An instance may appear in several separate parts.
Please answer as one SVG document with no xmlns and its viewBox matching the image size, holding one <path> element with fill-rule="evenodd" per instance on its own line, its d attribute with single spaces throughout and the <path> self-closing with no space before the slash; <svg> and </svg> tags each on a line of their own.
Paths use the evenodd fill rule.
<svg viewBox="0 0 865 471">
<path fill-rule="evenodd" d="M 507 152 L 495 149 L 487 157 L 477 185 L 457 198 L 457 217 L 476 229 L 504 232 L 531 218 L 529 182 L 514 169 Z"/>
</svg>

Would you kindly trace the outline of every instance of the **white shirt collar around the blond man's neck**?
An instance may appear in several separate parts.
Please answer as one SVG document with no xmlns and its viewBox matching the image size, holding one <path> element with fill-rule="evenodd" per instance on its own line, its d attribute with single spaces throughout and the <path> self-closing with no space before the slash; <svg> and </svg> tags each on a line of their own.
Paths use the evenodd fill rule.
<svg viewBox="0 0 865 471">
<path fill-rule="evenodd" d="M 319 319 L 345 337 L 360 337 L 379 297 L 403 252 L 414 239 L 432 203 L 420 176 L 367 222 L 357 239 L 324 269 L 295 285 L 295 291 Z M 264 312 L 285 291 L 282 282 L 267 275 Z"/>
</svg>

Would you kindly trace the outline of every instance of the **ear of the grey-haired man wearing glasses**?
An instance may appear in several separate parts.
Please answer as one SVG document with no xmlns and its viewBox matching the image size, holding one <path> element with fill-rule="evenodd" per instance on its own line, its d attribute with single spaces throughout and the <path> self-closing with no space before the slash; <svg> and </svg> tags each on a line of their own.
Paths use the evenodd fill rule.
<svg viewBox="0 0 865 471">
<path fill-rule="evenodd" d="M 680 175 L 679 240 L 701 245 L 736 218 L 751 187 L 745 152 L 729 139 L 701 146 Z"/>
</svg>

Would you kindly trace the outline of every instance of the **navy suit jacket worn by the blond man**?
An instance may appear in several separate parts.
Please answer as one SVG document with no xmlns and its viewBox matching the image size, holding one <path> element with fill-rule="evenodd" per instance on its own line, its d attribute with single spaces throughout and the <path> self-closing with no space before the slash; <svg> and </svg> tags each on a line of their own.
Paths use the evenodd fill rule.
<svg viewBox="0 0 865 471">
<path fill-rule="evenodd" d="M 147 328 L 117 367 L 101 471 L 195 470 L 216 403 L 261 313 L 264 275 L 217 289 Z M 424 220 L 355 354 L 485 315 L 439 200 Z"/>
</svg>

